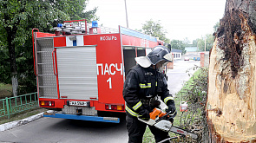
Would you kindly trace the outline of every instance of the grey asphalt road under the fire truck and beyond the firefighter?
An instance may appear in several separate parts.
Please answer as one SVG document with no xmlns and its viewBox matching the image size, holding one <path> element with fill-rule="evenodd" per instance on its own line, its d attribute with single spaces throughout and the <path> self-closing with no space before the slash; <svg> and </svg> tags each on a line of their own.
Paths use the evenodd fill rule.
<svg viewBox="0 0 256 143">
<path fill-rule="evenodd" d="M 184 81 L 189 79 L 188 68 L 200 62 L 174 61 L 174 69 L 167 70 L 168 88 L 171 94 L 181 90 Z M 194 73 L 194 71 L 190 71 Z M 41 118 L 20 127 L 0 132 L 0 142 L 24 143 L 126 143 L 128 133 L 125 119 L 121 123 L 102 123 L 84 120 L 63 120 Z"/>
</svg>

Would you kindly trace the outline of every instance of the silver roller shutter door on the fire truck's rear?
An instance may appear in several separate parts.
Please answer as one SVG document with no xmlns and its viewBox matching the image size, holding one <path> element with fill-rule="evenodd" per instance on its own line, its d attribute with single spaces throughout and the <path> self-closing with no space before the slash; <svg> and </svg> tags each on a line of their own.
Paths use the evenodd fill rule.
<svg viewBox="0 0 256 143">
<path fill-rule="evenodd" d="M 60 97 L 98 98 L 95 46 L 57 48 Z"/>
</svg>

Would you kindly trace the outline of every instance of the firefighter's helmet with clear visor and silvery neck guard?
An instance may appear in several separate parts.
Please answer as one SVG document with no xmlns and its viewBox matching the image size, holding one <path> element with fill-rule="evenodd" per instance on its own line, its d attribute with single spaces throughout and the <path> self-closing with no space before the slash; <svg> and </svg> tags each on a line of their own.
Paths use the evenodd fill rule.
<svg viewBox="0 0 256 143">
<path fill-rule="evenodd" d="M 148 68 L 151 64 L 155 65 L 158 62 L 173 62 L 171 50 L 164 46 L 158 45 L 152 49 L 146 56 L 136 57 L 135 61 L 143 68 Z"/>
</svg>

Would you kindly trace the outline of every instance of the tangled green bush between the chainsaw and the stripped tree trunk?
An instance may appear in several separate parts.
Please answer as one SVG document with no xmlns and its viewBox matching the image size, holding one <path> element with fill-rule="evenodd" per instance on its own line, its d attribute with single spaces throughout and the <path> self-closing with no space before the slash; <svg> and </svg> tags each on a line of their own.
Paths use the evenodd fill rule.
<svg viewBox="0 0 256 143">
<path fill-rule="evenodd" d="M 209 135 L 206 118 L 208 69 L 194 68 L 199 69 L 177 94 L 181 101 L 187 101 L 187 110 L 181 112 L 179 126 L 198 133 L 200 139 L 183 139 L 181 142 L 207 142 Z"/>
</svg>

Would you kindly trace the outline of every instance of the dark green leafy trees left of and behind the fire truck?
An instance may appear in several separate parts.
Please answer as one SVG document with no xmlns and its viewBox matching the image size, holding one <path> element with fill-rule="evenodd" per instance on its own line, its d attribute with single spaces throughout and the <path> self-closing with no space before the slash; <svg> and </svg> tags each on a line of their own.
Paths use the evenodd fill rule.
<svg viewBox="0 0 256 143">
<path fill-rule="evenodd" d="M 88 0 L 2 0 L 0 1 L 0 57 L 9 59 L 1 64 L 0 79 L 10 82 L 13 94 L 17 95 L 17 88 L 36 89 L 36 79 L 33 75 L 33 54 L 31 30 L 49 32 L 56 23 L 63 20 L 83 19 L 89 21 L 97 19 L 95 10 L 84 11 Z M 6 64 L 10 68 L 6 68 Z M 8 73 L 10 76 L 6 76 Z M 9 77 L 6 79 L 6 77 Z M 22 84 L 18 84 L 18 80 Z M 31 89 L 31 90 L 32 90 Z M 27 91 L 30 92 L 30 91 Z"/>
</svg>

